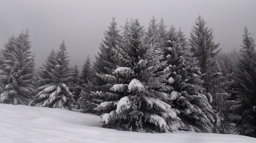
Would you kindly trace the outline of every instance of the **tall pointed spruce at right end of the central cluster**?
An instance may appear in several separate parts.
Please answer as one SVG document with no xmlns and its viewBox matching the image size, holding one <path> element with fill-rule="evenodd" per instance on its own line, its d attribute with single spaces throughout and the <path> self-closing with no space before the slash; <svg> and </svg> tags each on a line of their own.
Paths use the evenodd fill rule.
<svg viewBox="0 0 256 143">
<path fill-rule="evenodd" d="M 219 61 L 217 60 L 217 54 L 220 52 L 219 43 L 214 43 L 214 36 L 212 29 L 208 29 L 204 19 L 199 16 L 196 20 L 193 30 L 190 33 L 190 50 L 193 53 L 193 57 L 196 57 L 199 61 L 199 67 L 201 73 L 203 73 L 204 86 L 206 93 L 208 93 L 208 99 L 212 96 L 212 107 L 218 110 L 218 117 L 216 122 L 215 132 L 227 133 L 226 127 L 229 127 L 228 119 L 225 119 L 225 112 L 229 112 L 226 109 L 225 103 L 229 102 L 230 94 L 225 90 L 231 84 L 229 81 L 229 75 L 223 76 L 220 72 Z M 222 121 L 222 122 L 221 122 Z M 222 125 L 220 123 L 223 123 Z M 227 124 L 226 124 L 227 123 Z M 225 125 L 224 125 L 225 124 Z"/>
</svg>

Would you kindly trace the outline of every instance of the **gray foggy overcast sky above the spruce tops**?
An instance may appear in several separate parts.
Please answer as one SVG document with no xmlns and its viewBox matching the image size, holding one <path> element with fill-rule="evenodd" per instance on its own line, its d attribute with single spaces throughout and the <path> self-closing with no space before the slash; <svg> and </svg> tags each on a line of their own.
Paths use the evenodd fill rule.
<svg viewBox="0 0 256 143">
<path fill-rule="evenodd" d="M 71 64 L 81 66 L 88 54 L 94 60 L 111 17 L 116 17 L 118 25 L 127 18 L 139 18 L 145 26 L 153 15 L 158 20 L 163 17 L 168 27 L 180 26 L 188 37 L 199 14 L 214 29 L 215 41 L 223 51 L 240 48 L 245 25 L 256 38 L 255 0 L 0 0 L 0 48 L 11 35 L 28 28 L 37 67 L 63 39 Z"/>
</svg>

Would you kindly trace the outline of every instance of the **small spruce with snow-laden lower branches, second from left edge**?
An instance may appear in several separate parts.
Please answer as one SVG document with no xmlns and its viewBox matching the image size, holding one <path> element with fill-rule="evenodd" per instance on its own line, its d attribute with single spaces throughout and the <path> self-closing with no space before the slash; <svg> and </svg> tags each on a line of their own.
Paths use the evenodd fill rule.
<svg viewBox="0 0 256 143">
<path fill-rule="evenodd" d="M 73 106 L 74 98 L 68 88 L 69 79 L 72 78 L 68 53 L 64 41 L 59 46 L 57 53 L 51 52 L 45 64 L 48 70 L 46 84 L 38 88 L 40 91 L 30 105 L 52 108 L 70 109 Z M 48 67 L 50 66 L 50 67 Z"/>
</svg>

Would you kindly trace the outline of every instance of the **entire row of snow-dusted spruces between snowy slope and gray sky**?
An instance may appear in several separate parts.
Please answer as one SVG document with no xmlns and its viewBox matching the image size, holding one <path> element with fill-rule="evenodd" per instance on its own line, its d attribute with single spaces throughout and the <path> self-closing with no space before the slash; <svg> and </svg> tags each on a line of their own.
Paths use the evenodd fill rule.
<svg viewBox="0 0 256 143">
<path fill-rule="evenodd" d="M 1 50 L 1 103 L 82 109 L 118 130 L 256 137 L 256 53 L 246 27 L 240 52 L 223 53 L 201 16 L 188 39 L 163 19 L 146 28 L 130 19 L 119 29 L 113 18 L 81 71 L 64 41 L 39 70 L 30 48 L 26 31 Z"/>
</svg>

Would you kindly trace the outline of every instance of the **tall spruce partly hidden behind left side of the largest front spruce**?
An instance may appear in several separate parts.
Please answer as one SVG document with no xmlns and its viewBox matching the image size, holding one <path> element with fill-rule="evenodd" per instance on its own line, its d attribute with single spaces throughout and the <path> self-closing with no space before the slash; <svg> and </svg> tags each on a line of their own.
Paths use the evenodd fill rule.
<svg viewBox="0 0 256 143">
<path fill-rule="evenodd" d="M 121 41 L 119 30 L 117 29 L 117 22 L 115 18 L 112 18 L 108 30 L 104 33 L 104 38 L 100 43 L 100 51 L 96 56 L 96 61 L 93 66 L 95 76 L 91 82 L 89 82 L 85 89 L 81 92 L 81 107 L 86 108 L 87 112 L 94 112 L 93 108 L 97 107 L 102 101 L 110 98 L 108 96 L 102 96 L 99 91 L 108 92 L 110 86 L 106 84 L 106 81 L 102 79 L 101 75 L 111 74 L 116 68 L 116 61 L 113 59 L 114 49 L 118 47 Z M 88 92 L 90 90 L 90 92 Z M 83 102 L 84 101 L 84 102 Z M 83 102 L 83 103 L 82 103 Z M 100 114 L 100 112 L 98 112 Z"/>
</svg>

